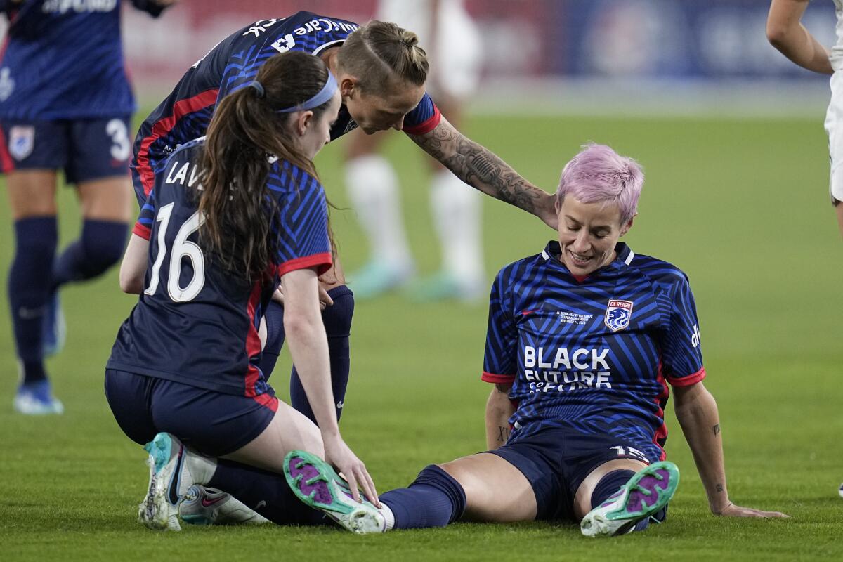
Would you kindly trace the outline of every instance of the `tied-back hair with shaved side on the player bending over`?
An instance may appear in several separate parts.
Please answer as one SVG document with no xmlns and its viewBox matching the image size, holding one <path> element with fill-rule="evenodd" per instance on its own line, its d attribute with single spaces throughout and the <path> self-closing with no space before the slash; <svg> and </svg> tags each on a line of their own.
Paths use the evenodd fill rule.
<svg viewBox="0 0 843 562">
<path fill-rule="evenodd" d="M 412 31 L 389 22 L 370 21 L 349 35 L 337 53 L 345 72 L 368 94 L 382 94 L 395 78 L 421 86 L 427 81 L 427 53 Z"/>
</svg>

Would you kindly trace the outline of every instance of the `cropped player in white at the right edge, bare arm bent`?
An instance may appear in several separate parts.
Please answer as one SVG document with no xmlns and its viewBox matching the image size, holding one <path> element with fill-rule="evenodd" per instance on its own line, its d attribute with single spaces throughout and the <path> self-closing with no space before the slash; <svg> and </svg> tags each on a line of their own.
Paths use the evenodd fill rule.
<svg viewBox="0 0 843 562">
<path fill-rule="evenodd" d="M 831 74 L 831 101 L 825 114 L 831 158 L 831 204 L 835 206 L 843 234 L 843 0 L 834 0 L 837 13 L 837 44 L 829 50 L 820 45 L 801 23 L 809 0 L 772 0 L 767 16 L 767 39 L 800 67 Z"/>
</svg>

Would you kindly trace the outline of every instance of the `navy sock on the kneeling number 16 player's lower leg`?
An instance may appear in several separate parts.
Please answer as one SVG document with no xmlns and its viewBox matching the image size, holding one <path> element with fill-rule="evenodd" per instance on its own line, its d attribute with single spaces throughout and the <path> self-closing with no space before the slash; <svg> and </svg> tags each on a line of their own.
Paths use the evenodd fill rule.
<svg viewBox="0 0 843 562">
<path fill-rule="evenodd" d="M 217 459 L 217 470 L 207 486 L 225 490 L 278 525 L 326 525 L 325 514 L 305 506 L 287 485 L 283 474 L 247 464 Z"/>
</svg>

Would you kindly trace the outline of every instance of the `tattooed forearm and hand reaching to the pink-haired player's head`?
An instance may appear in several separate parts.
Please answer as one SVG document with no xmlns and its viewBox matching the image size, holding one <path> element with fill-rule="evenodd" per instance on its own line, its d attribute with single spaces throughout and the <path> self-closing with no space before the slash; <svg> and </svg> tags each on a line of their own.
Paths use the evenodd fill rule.
<svg viewBox="0 0 843 562">
<path fill-rule="evenodd" d="M 558 227 L 555 197 L 529 183 L 501 158 L 457 131 L 444 117 L 432 131 L 410 138 L 466 184 Z"/>
</svg>

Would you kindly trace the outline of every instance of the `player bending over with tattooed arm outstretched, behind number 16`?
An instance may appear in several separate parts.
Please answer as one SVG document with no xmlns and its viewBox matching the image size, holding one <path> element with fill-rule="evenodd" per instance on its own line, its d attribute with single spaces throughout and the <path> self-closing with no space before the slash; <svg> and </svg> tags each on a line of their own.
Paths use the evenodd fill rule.
<svg viewBox="0 0 843 562">
<path fill-rule="evenodd" d="M 143 122 L 135 141 L 132 177 L 138 201 L 152 189 L 155 174 L 180 144 L 205 134 L 217 100 L 249 85 L 260 66 L 278 52 L 319 56 L 340 84 L 342 106 L 331 140 L 358 126 L 366 133 L 405 131 L 427 153 L 465 183 L 529 211 L 556 226 L 553 197 L 454 129 L 425 92 L 427 56 L 411 31 L 379 21 L 362 27 L 343 19 L 298 12 L 285 19 L 260 19 L 238 29 L 188 70 L 173 92 Z M 468 189 L 466 186 L 459 186 Z M 327 292 L 322 319 L 330 347 L 337 417 L 345 405 L 354 311 L 341 267 L 320 277 Z M 268 377 L 284 340 L 283 309 L 266 310 L 267 342 L 260 368 Z M 314 420 L 298 373 L 290 381 L 293 407 Z"/>
</svg>

